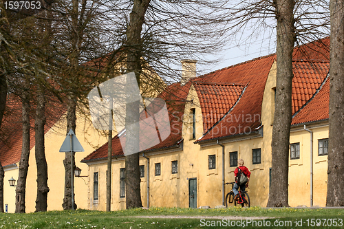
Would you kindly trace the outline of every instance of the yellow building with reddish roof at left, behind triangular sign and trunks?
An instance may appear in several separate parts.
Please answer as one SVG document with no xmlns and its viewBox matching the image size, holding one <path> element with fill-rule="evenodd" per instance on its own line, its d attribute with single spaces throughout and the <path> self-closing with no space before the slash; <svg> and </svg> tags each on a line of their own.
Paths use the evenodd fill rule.
<svg viewBox="0 0 344 229">
<path fill-rule="evenodd" d="M 103 68 L 107 58 L 96 59 L 87 63 L 89 67 Z M 125 66 L 120 63 L 120 67 Z M 116 67 L 114 74 L 120 74 L 122 68 Z M 162 91 L 165 83 L 162 79 L 149 68 L 144 66 L 140 92 L 142 96 L 154 96 L 157 91 Z M 151 83 L 148 83 L 151 82 Z M 152 83 L 153 82 L 153 83 Z M 159 86 L 159 88 L 158 88 Z M 154 87 L 154 88 L 153 88 Z M 152 96 L 152 97 L 153 97 Z M 19 98 L 10 95 L 6 104 L 6 115 L 1 126 L 2 138 L 0 141 L 0 162 L 5 171 L 4 177 L 4 209 L 8 212 L 15 211 L 15 187 L 10 186 L 8 180 L 13 177 L 16 181 L 19 175 L 19 161 L 21 158 L 22 144 L 22 127 L 21 127 L 21 102 Z M 89 114 L 81 107 L 78 107 L 76 118 L 76 137 L 83 146 L 85 152 L 75 153 L 76 166 L 81 169 L 81 175 L 89 175 L 87 164 L 80 163 L 90 152 L 98 149 L 107 142 L 107 133 L 94 129 Z M 63 210 L 63 198 L 65 192 L 65 168 L 63 160 L 65 153 L 59 150 L 66 138 L 66 116 L 67 111 L 65 105 L 61 102 L 48 101 L 46 105 L 47 124 L 45 125 L 45 157 L 47 160 L 48 180 L 47 186 L 50 188 L 47 194 L 47 210 Z M 36 206 L 36 190 L 37 190 L 37 170 L 36 160 L 34 157 L 34 122 L 32 120 L 32 131 L 30 132 L 30 158 L 28 178 L 26 181 L 25 192 L 25 211 L 34 212 Z M 75 203 L 78 208 L 89 208 L 87 199 L 89 196 L 89 176 L 75 177 L 74 193 Z"/>
</svg>

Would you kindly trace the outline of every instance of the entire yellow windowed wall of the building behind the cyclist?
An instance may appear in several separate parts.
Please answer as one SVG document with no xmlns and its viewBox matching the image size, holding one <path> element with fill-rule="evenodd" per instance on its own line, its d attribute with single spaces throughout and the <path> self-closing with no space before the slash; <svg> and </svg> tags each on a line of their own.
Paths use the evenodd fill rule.
<svg viewBox="0 0 344 229">
<path fill-rule="evenodd" d="M 265 207 L 268 202 L 270 188 L 270 167 L 271 167 L 271 140 L 272 123 L 275 110 L 275 87 L 276 87 L 276 63 L 273 63 L 266 87 L 261 109 L 261 129 L 263 137 L 259 135 L 243 135 L 237 138 L 220 140 L 224 145 L 225 182 L 234 182 L 234 170 L 230 167 L 230 152 L 237 151 L 238 158 L 245 161 L 245 166 L 251 171 L 250 185 L 248 193 L 252 206 Z M 186 98 L 183 117 L 182 138 L 183 151 L 168 153 L 146 154 L 150 159 L 149 168 L 149 206 L 166 207 L 189 207 L 189 179 L 197 178 L 197 207 L 222 205 L 222 146 L 213 142 L 206 146 L 194 144 L 195 140 L 202 137 L 203 120 L 200 109 L 200 102 L 193 86 Z M 193 100 L 193 102 L 191 102 Z M 191 109 L 195 109 L 196 114 L 196 136 L 192 139 L 192 119 Z M 299 129 L 292 129 L 290 133 L 290 143 L 300 142 L 300 159 L 290 160 L 289 171 L 289 204 L 290 206 L 306 205 L 310 206 L 310 133 Z M 328 127 L 309 126 L 314 132 L 314 206 L 325 206 L 326 179 L 327 179 L 327 156 L 318 156 L 318 140 L 328 138 Z M 252 164 L 252 149 L 261 149 L 261 164 Z M 216 155 L 216 168 L 208 169 L 208 156 Z M 178 174 L 171 174 L 171 162 L 178 160 Z M 161 175 L 155 176 L 155 163 L 161 163 Z M 140 157 L 140 164 L 144 164 L 147 169 L 147 160 Z M 102 168 L 100 168 L 103 166 Z M 94 171 L 103 171 L 106 164 L 90 164 L 90 175 L 92 184 L 92 174 Z M 113 203 L 112 210 L 124 209 L 125 198 L 119 197 L 119 171 L 125 168 L 124 160 L 114 160 L 113 162 Z M 105 173 L 105 171 L 103 171 Z M 303 177 L 302 182 L 299 177 Z M 114 183 L 115 182 L 115 183 Z M 273 185 L 273 184 L 272 184 Z M 105 188 L 105 183 L 103 184 Z M 225 195 L 230 191 L 231 186 L 225 186 Z M 92 186 L 89 188 L 89 196 L 92 197 Z M 141 182 L 142 204 L 147 206 L 147 173 Z M 101 195 L 100 198 L 105 198 Z M 105 210 L 105 205 L 101 204 L 105 199 L 100 200 L 96 206 L 90 204 L 89 209 Z"/>
</svg>

